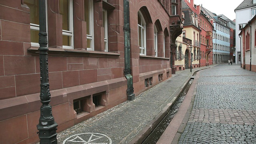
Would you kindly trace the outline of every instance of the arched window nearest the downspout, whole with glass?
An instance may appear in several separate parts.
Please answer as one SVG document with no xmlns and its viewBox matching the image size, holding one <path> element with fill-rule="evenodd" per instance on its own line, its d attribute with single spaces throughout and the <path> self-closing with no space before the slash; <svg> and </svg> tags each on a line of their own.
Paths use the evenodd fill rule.
<svg viewBox="0 0 256 144">
<path fill-rule="evenodd" d="M 138 44 L 140 55 L 146 55 L 146 22 L 140 11 L 138 12 Z"/>
</svg>

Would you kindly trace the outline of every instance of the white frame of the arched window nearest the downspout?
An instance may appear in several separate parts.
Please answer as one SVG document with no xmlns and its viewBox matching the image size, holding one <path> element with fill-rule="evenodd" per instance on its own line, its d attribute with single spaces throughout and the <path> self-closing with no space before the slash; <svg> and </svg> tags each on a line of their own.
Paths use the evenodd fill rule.
<svg viewBox="0 0 256 144">
<path fill-rule="evenodd" d="M 142 47 L 140 47 L 140 55 L 143 55 L 143 56 L 146 56 L 146 22 L 144 20 L 144 17 L 142 15 L 142 13 L 140 12 L 140 10 L 138 11 L 138 14 L 140 14 L 141 16 L 141 24 L 138 24 L 138 45 L 140 46 L 139 44 L 139 27 L 141 28 L 141 34 L 142 34 Z M 139 23 L 139 22 L 138 22 Z M 144 31 L 143 31 L 144 30 Z M 143 52 L 144 51 L 144 52 Z"/>
</svg>

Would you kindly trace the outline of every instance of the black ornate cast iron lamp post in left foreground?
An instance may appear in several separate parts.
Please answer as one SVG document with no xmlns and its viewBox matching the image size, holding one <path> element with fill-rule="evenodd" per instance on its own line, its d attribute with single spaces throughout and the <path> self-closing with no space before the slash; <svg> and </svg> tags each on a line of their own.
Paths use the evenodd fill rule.
<svg viewBox="0 0 256 144">
<path fill-rule="evenodd" d="M 50 89 L 48 79 L 48 47 L 46 33 L 46 3 L 45 0 L 39 0 L 39 59 L 40 59 L 40 118 L 37 129 L 40 144 L 57 144 L 57 126 L 52 116 L 52 106 L 50 103 Z"/>
</svg>

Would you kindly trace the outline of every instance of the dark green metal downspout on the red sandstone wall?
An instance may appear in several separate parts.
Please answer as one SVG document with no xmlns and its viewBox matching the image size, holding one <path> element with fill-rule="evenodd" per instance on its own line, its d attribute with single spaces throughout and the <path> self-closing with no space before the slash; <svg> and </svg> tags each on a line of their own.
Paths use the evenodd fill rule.
<svg viewBox="0 0 256 144">
<path fill-rule="evenodd" d="M 127 99 L 134 100 L 133 81 L 130 68 L 130 6 L 129 0 L 124 0 L 124 75 L 127 78 Z"/>
</svg>

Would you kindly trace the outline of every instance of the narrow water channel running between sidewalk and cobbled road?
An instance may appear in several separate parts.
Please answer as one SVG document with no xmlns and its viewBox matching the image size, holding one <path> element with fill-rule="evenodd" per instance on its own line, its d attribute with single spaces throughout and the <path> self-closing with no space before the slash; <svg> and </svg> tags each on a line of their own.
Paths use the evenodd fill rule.
<svg viewBox="0 0 256 144">
<path fill-rule="evenodd" d="M 193 74 L 195 75 L 195 74 Z M 167 126 L 172 121 L 172 118 L 174 118 L 175 114 L 178 112 L 180 105 L 182 104 L 191 84 L 193 82 L 193 79 L 190 79 L 188 84 L 186 84 L 184 90 L 182 91 L 180 97 L 176 101 L 176 103 L 172 106 L 168 114 L 164 117 L 164 119 L 158 124 L 158 126 L 154 129 L 154 131 L 144 140 L 142 144 L 156 144 L 158 139 L 162 136 Z"/>
</svg>

